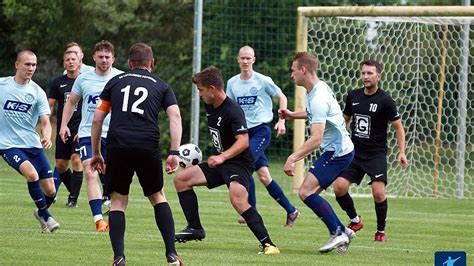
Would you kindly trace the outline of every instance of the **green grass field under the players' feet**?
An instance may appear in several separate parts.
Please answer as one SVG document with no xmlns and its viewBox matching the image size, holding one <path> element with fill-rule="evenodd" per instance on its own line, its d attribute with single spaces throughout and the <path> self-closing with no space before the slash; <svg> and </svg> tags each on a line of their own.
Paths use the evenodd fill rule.
<svg viewBox="0 0 474 266">
<path fill-rule="evenodd" d="M 291 180 L 284 177 L 281 164 L 274 163 L 272 174 L 283 189 L 290 191 Z M 474 265 L 474 201 L 455 199 L 390 199 L 387 222 L 388 242 L 374 243 L 375 213 L 370 198 L 356 198 L 365 227 L 346 254 L 319 254 L 328 232 L 324 224 L 296 195 L 290 200 L 301 211 L 293 229 L 283 227 L 285 213 L 257 185 L 257 207 L 273 241 L 281 249 L 277 256 L 257 255 L 258 242 L 245 225 L 237 224 L 225 187 L 198 188 L 202 224 L 206 239 L 177 243 L 188 265 L 433 265 L 436 251 L 466 251 L 468 265 Z M 185 219 L 166 176 L 166 191 L 175 218 L 176 230 Z M 332 195 L 325 195 L 343 223 L 345 214 Z M 0 265 L 110 265 L 112 249 L 107 234 L 95 233 L 83 184 L 79 208 L 68 209 L 67 191 L 61 187 L 51 212 L 61 224 L 53 234 L 40 233 L 33 217 L 34 205 L 24 179 L 0 162 Z M 164 247 L 155 226 L 153 210 L 142 196 L 138 182 L 132 185 L 126 213 L 125 252 L 129 265 L 165 265 Z"/>
</svg>

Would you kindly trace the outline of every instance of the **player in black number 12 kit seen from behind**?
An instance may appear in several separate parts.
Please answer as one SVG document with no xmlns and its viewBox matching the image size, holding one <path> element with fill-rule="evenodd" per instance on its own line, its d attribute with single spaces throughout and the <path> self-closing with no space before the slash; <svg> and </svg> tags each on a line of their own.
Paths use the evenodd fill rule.
<svg viewBox="0 0 474 266">
<path fill-rule="evenodd" d="M 163 191 L 158 123 L 158 114 L 163 109 L 169 118 L 171 139 L 166 172 L 172 173 L 178 168 L 181 115 L 171 87 L 150 73 L 154 62 L 150 46 L 145 43 L 132 45 L 128 56 L 131 71 L 115 76 L 105 85 L 100 94 L 101 104 L 92 122 L 91 166 L 104 171 L 100 139 L 104 119 L 111 112 L 106 175 L 112 202 L 109 235 L 114 251 L 113 265 L 125 265 L 125 209 L 134 173 L 155 211 L 155 221 L 165 242 L 168 263 L 183 265 L 176 254 L 174 220 Z"/>
</svg>

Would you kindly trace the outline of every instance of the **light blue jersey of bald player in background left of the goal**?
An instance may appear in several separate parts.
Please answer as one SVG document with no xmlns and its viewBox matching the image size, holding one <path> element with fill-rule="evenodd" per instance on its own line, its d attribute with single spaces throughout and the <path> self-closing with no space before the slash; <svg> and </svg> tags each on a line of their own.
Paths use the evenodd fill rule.
<svg viewBox="0 0 474 266">
<path fill-rule="evenodd" d="M 272 97 L 281 89 L 270 77 L 253 71 L 249 80 L 241 80 L 240 74 L 229 79 L 226 93 L 244 110 L 248 128 L 253 128 L 273 120 Z"/>
</svg>

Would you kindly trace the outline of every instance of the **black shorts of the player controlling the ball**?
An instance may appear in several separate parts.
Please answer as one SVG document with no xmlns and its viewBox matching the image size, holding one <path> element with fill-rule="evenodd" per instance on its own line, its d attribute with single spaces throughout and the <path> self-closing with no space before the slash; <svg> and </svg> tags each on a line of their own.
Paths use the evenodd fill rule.
<svg viewBox="0 0 474 266">
<path fill-rule="evenodd" d="M 252 176 L 253 165 L 245 164 L 239 161 L 227 161 L 223 164 L 210 168 L 207 163 L 200 163 L 204 176 L 207 180 L 207 187 L 213 189 L 215 187 L 230 185 L 230 182 L 237 181 L 239 184 L 249 190 L 249 179 Z"/>
</svg>

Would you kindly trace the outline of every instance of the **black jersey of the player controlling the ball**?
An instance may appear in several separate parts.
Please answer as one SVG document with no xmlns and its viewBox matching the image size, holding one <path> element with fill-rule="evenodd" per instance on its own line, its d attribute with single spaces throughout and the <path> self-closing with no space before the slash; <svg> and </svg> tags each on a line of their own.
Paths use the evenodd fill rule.
<svg viewBox="0 0 474 266">
<path fill-rule="evenodd" d="M 211 134 L 216 154 L 220 154 L 234 145 L 236 135 L 248 133 L 245 114 L 240 105 L 226 97 L 222 104 L 213 108 L 205 104 L 207 127 Z M 253 164 L 249 148 L 230 160 L 241 159 Z"/>
</svg>

